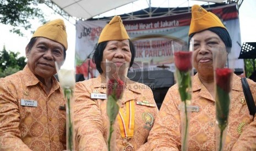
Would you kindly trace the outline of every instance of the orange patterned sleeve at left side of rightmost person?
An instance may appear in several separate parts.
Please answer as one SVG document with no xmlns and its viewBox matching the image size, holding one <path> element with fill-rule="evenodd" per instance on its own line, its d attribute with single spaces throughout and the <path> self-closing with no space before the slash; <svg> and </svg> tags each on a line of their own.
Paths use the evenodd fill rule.
<svg viewBox="0 0 256 151">
<path fill-rule="evenodd" d="M 179 119 L 178 105 L 170 88 L 157 115 L 156 121 L 150 131 L 148 142 L 151 150 L 180 150 L 181 147 L 181 121 Z"/>
</svg>

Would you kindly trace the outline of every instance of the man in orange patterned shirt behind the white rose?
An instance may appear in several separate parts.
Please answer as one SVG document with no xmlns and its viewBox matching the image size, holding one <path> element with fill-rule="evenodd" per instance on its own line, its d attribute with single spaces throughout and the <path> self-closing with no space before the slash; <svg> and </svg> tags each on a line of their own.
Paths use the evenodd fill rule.
<svg viewBox="0 0 256 151">
<path fill-rule="evenodd" d="M 26 46 L 23 71 L 0 79 L 0 150 L 66 149 L 65 101 L 53 75 L 67 48 L 63 20 L 50 21 Z"/>
</svg>

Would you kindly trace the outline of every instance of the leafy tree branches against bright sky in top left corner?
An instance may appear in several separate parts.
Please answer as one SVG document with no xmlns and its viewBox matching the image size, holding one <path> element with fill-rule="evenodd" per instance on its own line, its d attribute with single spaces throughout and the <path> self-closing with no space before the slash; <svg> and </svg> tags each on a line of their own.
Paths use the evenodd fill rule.
<svg viewBox="0 0 256 151">
<path fill-rule="evenodd" d="M 10 32 L 24 36 L 22 30 L 31 29 L 30 20 L 46 22 L 37 4 L 40 0 L 0 0 L 0 22 L 13 26 Z"/>
</svg>

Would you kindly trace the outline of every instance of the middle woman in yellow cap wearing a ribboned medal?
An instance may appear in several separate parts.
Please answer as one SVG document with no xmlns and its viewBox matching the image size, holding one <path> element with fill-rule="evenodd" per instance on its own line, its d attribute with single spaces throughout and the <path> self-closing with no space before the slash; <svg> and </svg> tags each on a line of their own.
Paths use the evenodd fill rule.
<svg viewBox="0 0 256 151">
<path fill-rule="evenodd" d="M 106 113 L 106 73 L 101 62 L 106 59 L 113 63 L 129 62 L 133 64 L 135 49 L 119 16 L 115 16 L 102 30 L 93 56 L 99 77 L 77 83 L 75 87 L 75 140 L 79 150 L 107 150 L 109 120 Z M 127 104 L 133 101 L 134 121 L 130 127 L 134 132 L 129 138 L 123 136 L 116 122 L 116 150 L 133 148 L 137 150 L 146 146 L 149 131 L 158 109 L 151 89 L 137 82 L 126 80 L 126 89 L 120 100 L 124 115 L 129 115 Z M 121 112 L 121 111 L 119 111 Z M 125 117 L 124 117 L 125 118 Z"/>
</svg>

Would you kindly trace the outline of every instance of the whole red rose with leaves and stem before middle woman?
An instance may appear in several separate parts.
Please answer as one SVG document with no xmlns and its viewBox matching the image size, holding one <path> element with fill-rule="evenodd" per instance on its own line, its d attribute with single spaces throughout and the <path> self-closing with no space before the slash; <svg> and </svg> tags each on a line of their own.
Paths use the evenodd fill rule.
<svg viewBox="0 0 256 151">
<path fill-rule="evenodd" d="M 115 123 L 117 114 L 119 112 L 119 106 L 117 101 L 122 97 L 124 90 L 124 83 L 122 80 L 118 79 L 117 83 L 115 79 L 108 80 L 107 89 L 107 116 L 110 120 L 110 131 L 108 135 L 108 151 L 111 150 L 111 136 L 114 131 L 113 124 Z"/>
</svg>

